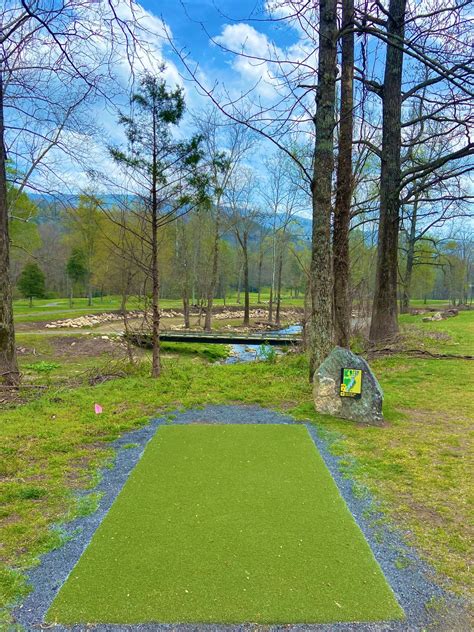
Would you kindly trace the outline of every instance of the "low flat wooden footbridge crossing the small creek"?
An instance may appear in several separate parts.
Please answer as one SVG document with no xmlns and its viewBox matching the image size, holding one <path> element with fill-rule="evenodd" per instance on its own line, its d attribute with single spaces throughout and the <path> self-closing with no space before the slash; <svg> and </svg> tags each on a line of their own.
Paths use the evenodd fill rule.
<svg viewBox="0 0 474 632">
<path fill-rule="evenodd" d="M 131 342 L 140 347 L 151 347 L 151 334 L 149 332 L 133 332 L 129 334 Z M 227 331 L 190 331 L 190 330 L 163 330 L 160 331 L 160 340 L 163 342 L 204 342 L 207 344 L 221 345 L 271 345 L 291 346 L 301 342 L 301 334 L 283 334 L 278 331 L 258 332 L 227 332 Z"/>
</svg>

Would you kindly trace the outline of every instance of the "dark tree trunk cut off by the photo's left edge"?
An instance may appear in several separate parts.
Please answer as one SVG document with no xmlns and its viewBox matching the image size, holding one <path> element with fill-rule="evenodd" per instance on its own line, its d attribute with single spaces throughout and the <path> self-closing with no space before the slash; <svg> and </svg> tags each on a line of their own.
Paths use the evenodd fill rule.
<svg viewBox="0 0 474 632">
<path fill-rule="evenodd" d="M 20 383 L 20 372 L 16 359 L 10 280 L 6 161 L 3 72 L 0 68 L 0 383 L 7 386 L 17 386 Z"/>
</svg>

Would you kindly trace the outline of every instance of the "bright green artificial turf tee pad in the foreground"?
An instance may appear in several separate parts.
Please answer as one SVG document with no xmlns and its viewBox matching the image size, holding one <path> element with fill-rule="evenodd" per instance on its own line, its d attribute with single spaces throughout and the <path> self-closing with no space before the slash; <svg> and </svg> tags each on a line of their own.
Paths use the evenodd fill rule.
<svg viewBox="0 0 474 632">
<path fill-rule="evenodd" d="M 48 614 L 317 623 L 403 612 L 304 426 L 162 426 Z"/>
</svg>

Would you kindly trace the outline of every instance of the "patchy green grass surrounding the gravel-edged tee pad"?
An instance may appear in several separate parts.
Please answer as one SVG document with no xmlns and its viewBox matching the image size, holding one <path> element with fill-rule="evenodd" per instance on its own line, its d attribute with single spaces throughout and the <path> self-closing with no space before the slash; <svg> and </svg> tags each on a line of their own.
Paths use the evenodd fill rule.
<svg viewBox="0 0 474 632">
<path fill-rule="evenodd" d="M 474 312 L 439 323 L 421 323 L 415 317 L 403 320 L 417 346 L 428 337 L 434 351 L 444 352 L 451 345 L 472 353 Z M 49 337 L 39 339 L 38 345 L 45 345 L 43 355 L 26 356 L 22 362 L 63 363 Z M 65 353 L 74 356 L 71 350 Z M 81 371 L 80 358 L 71 362 L 78 365 L 74 371 Z M 89 362 L 87 356 L 84 362 Z M 158 381 L 148 377 L 145 356 L 122 379 L 95 386 L 79 380 L 76 388 L 52 380 L 40 398 L 2 410 L 3 604 L 26 590 L 23 570 L 36 563 L 41 552 L 61 543 L 61 530 L 51 526 L 94 510 L 97 469 L 113 465 L 112 439 L 145 424 L 157 411 L 232 402 L 269 406 L 315 423 L 342 455 L 342 467 L 358 482 L 359 492 L 370 489 L 383 504 L 387 519 L 405 530 L 408 540 L 439 572 L 439 581 L 468 596 L 473 587 L 469 385 L 474 365 L 467 360 L 395 355 L 377 359 L 373 368 L 385 392 L 388 423 L 382 428 L 316 415 L 306 359 L 293 354 L 276 364 L 232 366 L 175 354 L 164 359 Z M 41 379 L 46 383 L 46 376 Z M 102 405 L 102 415 L 94 414 L 95 402 Z M 79 497 L 77 490 L 84 488 L 90 494 Z M 401 558 L 400 564 L 405 563 Z"/>
</svg>

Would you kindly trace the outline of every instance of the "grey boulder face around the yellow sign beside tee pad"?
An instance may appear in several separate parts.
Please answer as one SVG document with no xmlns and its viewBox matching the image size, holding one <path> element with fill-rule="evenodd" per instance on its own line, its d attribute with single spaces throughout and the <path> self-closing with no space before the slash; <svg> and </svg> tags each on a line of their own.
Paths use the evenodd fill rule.
<svg viewBox="0 0 474 632">
<path fill-rule="evenodd" d="M 360 395 L 341 396 L 343 369 L 362 371 Z M 335 347 L 314 374 L 314 405 L 318 412 L 379 426 L 383 423 L 383 391 L 369 365 L 349 349 Z"/>
</svg>

